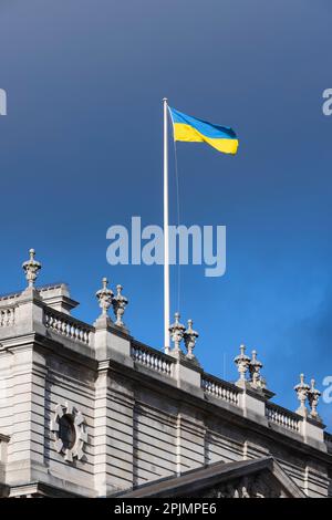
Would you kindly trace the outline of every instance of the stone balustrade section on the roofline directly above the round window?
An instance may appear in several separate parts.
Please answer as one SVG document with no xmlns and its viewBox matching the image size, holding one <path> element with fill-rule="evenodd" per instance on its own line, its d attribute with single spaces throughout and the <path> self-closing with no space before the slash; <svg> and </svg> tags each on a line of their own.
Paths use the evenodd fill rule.
<svg viewBox="0 0 332 520">
<path fill-rule="evenodd" d="M 90 336 L 93 327 L 75 320 L 74 318 L 46 309 L 44 312 L 44 324 L 46 329 L 69 337 L 70 340 L 79 341 L 85 345 L 90 344 Z"/>
</svg>

